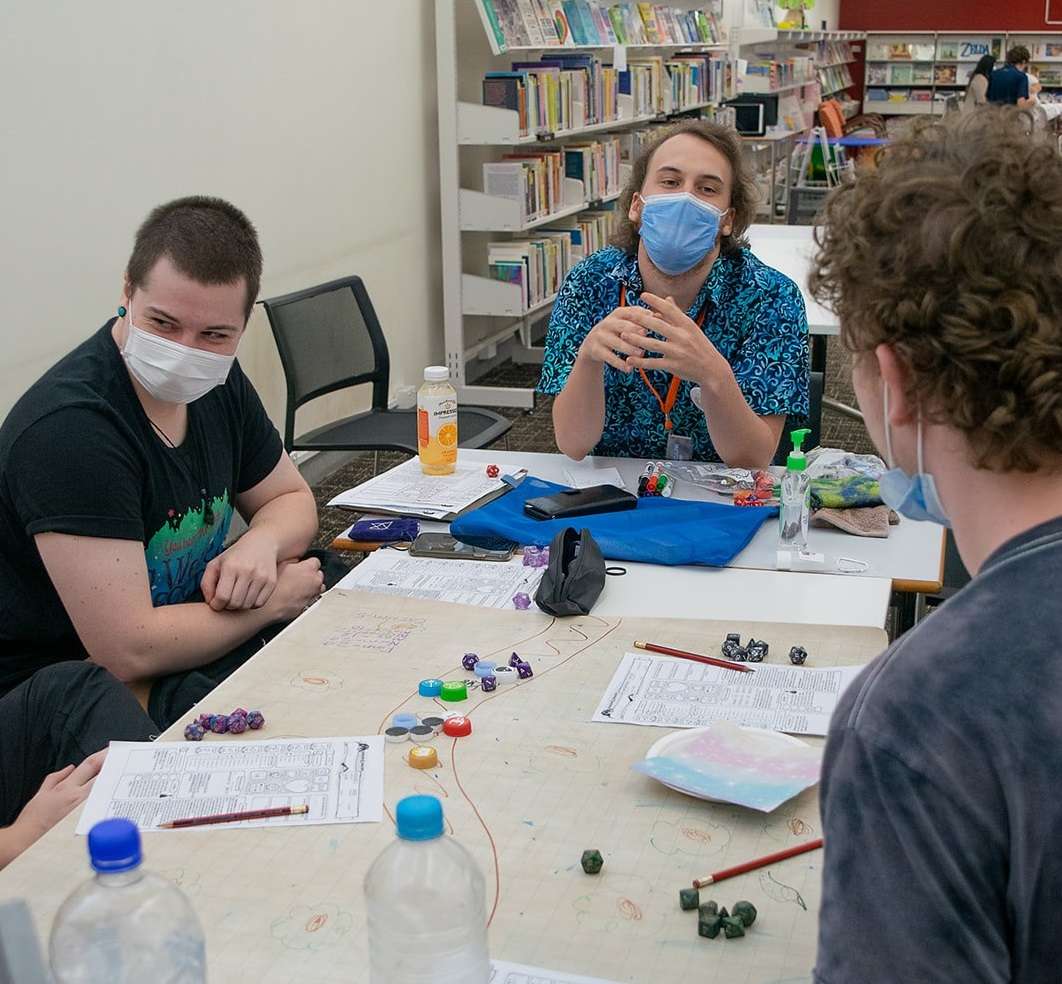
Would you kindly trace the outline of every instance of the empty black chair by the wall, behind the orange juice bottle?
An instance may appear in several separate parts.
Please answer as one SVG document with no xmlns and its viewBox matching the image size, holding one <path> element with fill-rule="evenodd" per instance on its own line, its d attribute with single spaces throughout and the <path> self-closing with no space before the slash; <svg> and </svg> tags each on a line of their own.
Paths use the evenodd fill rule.
<svg viewBox="0 0 1062 984">
<path fill-rule="evenodd" d="M 416 454 L 416 411 L 389 410 L 391 359 L 361 277 L 344 277 L 262 301 L 280 352 L 288 401 L 284 446 L 289 451 L 405 451 Z M 373 384 L 373 407 L 295 436 L 295 411 L 304 403 Z M 461 407 L 462 448 L 485 448 L 512 422 L 490 410 Z"/>
</svg>

